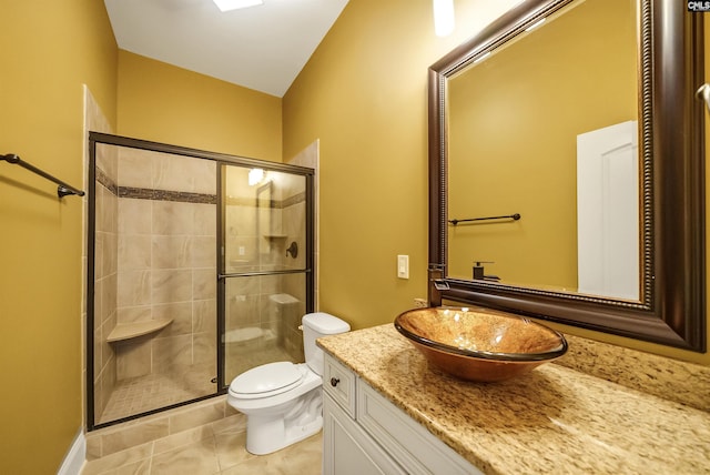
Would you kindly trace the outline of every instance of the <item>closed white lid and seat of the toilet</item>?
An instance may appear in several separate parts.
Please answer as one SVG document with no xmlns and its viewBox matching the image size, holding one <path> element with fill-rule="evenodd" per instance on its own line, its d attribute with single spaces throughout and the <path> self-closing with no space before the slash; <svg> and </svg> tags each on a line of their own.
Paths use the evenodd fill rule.
<svg viewBox="0 0 710 475">
<path fill-rule="evenodd" d="M 230 392 L 244 400 L 270 397 L 296 387 L 304 377 L 304 372 L 291 362 L 267 363 L 236 376 Z"/>
</svg>

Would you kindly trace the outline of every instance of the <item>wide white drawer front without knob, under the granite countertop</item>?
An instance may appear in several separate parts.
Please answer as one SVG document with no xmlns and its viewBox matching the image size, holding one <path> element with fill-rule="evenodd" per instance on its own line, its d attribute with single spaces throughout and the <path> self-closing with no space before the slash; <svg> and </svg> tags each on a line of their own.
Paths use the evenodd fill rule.
<svg viewBox="0 0 710 475">
<path fill-rule="evenodd" d="M 483 474 L 367 384 L 357 385 L 357 422 L 408 474 Z"/>
</svg>

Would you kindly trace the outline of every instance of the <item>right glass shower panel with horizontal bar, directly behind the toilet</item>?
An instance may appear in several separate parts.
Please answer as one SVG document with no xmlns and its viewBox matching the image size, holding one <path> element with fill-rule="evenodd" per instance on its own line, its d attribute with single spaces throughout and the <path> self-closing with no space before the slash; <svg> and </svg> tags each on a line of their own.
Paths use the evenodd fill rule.
<svg viewBox="0 0 710 475">
<path fill-rule="evenodd" d="M 313 171 L 221 165 L 221 383 L 252 367 L 303 362 L 313 311 Z"/>
</svg>

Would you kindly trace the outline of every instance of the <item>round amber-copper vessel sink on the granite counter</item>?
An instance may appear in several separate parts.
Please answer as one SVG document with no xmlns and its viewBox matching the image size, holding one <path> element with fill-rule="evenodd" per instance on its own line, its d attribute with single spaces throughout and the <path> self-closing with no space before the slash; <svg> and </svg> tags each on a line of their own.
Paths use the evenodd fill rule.
<svg viewBox="0 0 710 475">
<path fill-rule="evenodd" d="M 468 381 L 508 380 L 567 352 L 560 333 L 488 309 L 410 310 L 395 319 L 395 327 L 429 364 Z"/>
</svg>

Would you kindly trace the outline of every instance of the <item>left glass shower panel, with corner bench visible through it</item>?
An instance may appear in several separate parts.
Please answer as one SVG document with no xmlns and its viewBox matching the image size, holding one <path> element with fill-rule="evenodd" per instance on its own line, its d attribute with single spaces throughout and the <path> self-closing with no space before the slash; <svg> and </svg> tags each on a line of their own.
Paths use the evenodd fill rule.
<svg viewBox="0 0 710 475">
<path fill-rule="evenodd" d="M 217 165 L 92 133 L 88 427 L 217 394 Z"/>
</svg>

